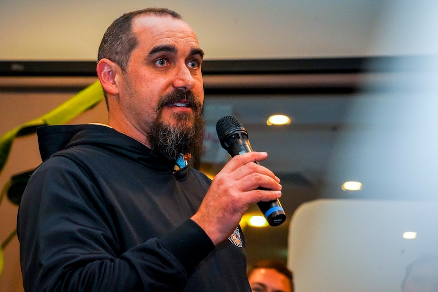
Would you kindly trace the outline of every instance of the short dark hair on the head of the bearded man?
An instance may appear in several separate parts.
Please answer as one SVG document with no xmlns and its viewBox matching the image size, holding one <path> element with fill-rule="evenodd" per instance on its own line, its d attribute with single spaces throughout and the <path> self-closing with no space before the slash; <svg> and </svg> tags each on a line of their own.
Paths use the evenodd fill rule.
<svg viewBox="0 0 438 292">
<path fill-rule="evenodd" d="M 181 15 L 167 8 L 146 8 L 125 13 L 114 20 L 105 31 L 99 46 L 98 61 L 106 58 L 118 64 L 122 71 L 126 70 L 131 53 L 138 45 L 138 40 L 132 31 L 132 21 L 143 14 L 182 19 Z"/>
</svg>

